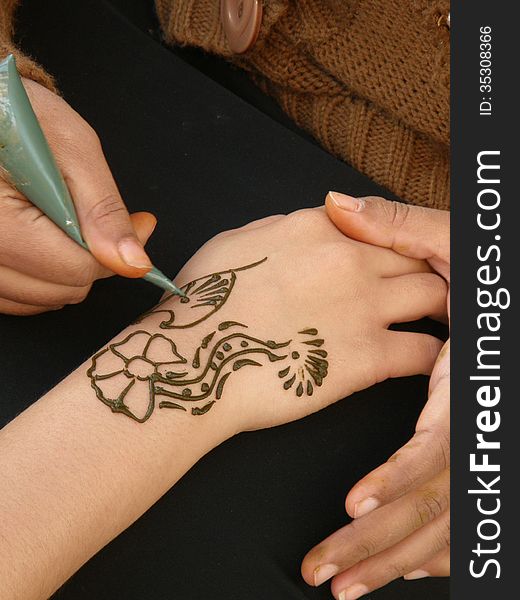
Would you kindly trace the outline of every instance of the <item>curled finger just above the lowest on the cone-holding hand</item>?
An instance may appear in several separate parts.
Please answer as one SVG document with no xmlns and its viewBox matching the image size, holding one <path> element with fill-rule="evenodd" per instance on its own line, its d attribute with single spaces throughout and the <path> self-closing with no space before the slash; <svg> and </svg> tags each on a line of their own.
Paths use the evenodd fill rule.
<svg viewBox="0 0 520 600">
<path fill-rule="evenodd" d="M 85 299 L 91 285 L 50 283 L 0 266 L 0 297 L 18 304 L 43 307 L 77 304 Z"/>
</svg>

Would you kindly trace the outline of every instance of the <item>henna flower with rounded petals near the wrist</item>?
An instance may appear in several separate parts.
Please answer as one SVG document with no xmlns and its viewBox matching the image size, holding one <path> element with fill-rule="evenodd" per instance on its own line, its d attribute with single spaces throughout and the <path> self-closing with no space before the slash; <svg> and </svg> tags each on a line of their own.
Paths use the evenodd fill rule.
<svg viewBox="0 0 520 600">
<path fill-rule="evenodd" d="M 185 364 L 175 343 L 162 334 L 134 331 L 110 344 L 92 359 L 87 371 L 97 397 L 113 412 L 146 421 L 155 405 L 154 383 L 161 377 L 181 377 L 177 365 Z"/>
</svg>

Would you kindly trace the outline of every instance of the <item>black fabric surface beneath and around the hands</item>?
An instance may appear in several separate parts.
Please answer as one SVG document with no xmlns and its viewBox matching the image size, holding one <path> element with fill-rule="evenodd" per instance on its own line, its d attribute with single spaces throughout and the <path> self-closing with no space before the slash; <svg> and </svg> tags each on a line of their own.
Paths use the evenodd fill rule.
<svg viewBox="0 0 520 600">
<path fill-rule="evenodd" d="M 157 215 L 150 254 L 170 275 L 224 229 L 316 206 L 329 189 L 380 192 L 109 2 L 24 0 L 18 31 L 97 130 L 129 208 Z M 0 315 L 0 426 L 159 296 L 145 282 L 112 278 L 78 306 Z M 411 436 L 426 390 L 423 377 L 389 381 L 302 421 L 228 441 L 56 598 L 330 599 L 327 584 L 313 589 L 301 579 L 300 561 L 347 522 L 349 488 Z M 447 597 L 446 580 L 401 580 L 370 595 Z"/>
</svg>

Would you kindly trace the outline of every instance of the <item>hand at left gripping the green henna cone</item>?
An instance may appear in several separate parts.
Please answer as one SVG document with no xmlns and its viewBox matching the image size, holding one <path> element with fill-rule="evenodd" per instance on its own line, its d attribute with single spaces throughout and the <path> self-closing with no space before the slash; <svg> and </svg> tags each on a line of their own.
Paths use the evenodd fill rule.
<svg viewBox="0 0 520 600">
<path fill-rule="evenodd" d="M 111 273 L 141 277 L 150 213 L 129 217 L 93 129 L 61 98 L 24 80 L 74 199 L 92 255 L 0 179 L 0 313 L 30 315 L 80 302 Z"/>
</svg>

